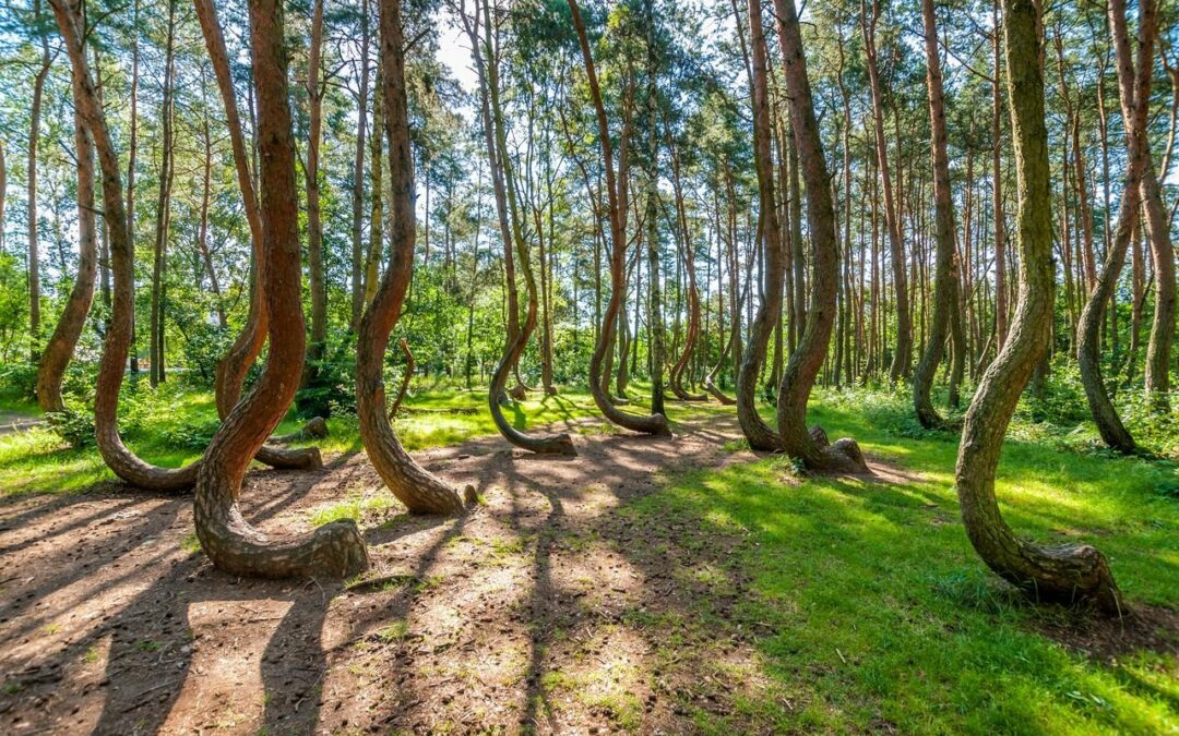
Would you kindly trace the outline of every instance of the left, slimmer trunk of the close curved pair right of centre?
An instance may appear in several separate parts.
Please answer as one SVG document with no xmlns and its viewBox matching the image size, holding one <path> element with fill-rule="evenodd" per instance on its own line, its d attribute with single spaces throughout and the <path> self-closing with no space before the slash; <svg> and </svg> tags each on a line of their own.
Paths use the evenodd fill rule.
<svg viewBox="0 0 1179 736">
<path fill-rule="evenodd" d="M 782 289 L 785 280 L 782 258 L 782 230 L 778 224 L 777 199 L 773 195 L 773 154 L 770 146 L 770 93 L 766 85 L 765 33 L 762 29 L 762 2 L 749 0 L 750 73 L 753 104 L 753 163 L 757 167 L 757 190 L 760 198 L 763 243 L 765 248 L 765 294 L 757 309 L 757 317 L 749 327 L 749 342 L 737 373 L 737 419 L 753 450 L 773 451 L 782 447 L 782 438 L 757 413 L 757 379 L 765 363 L 765 349 L 773 327 L 782 321 Z"/>
</svg>

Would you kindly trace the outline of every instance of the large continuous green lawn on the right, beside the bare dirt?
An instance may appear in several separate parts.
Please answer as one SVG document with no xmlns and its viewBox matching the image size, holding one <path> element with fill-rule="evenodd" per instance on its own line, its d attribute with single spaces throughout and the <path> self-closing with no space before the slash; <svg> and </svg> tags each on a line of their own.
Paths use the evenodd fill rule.
<svg viewBox="0 0 1179 736">
<path fill-rule="evenodd" d="M 832 439 L 855 437 L 911 482 L 798 483 L 769 458 L 680 477 L 625 509 L 652 528 L 681 520 L 705 538 L 736 536 L 737 553 L 714 564 L 731 579 L 749 576 L 732 618 L 718 618 L 705 596 L 698 610 L 653 618 L 648 641 L 674 641 L 684 619 L 712 639 L 758 631 L 770 684 L 738 698 L 733 717 L 771 731 L 1179 731 L 1175 659 L 1137 652 L 1109 663 L 1040 634 L 1078 614 L 1027 605 L 986 570 L 959 523 L 956 438 L 903 436 L 902 415 L 889 399 L 828 394 L 810 419 Z M 1092 542 L 1132 604 L 1174 608 L 1179 500 L 1158 491 L 1172 475 L 1166 464 L 1015 442 L 997 495 L 1017 533 Z M 693 715 L 705 731 L 735 728 L 706 710 Z"/>
</svg>

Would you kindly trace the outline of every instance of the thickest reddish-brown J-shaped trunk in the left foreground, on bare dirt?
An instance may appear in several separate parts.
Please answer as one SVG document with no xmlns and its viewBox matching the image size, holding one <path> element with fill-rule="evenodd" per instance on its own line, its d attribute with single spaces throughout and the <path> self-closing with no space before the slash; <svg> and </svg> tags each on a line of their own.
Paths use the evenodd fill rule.
<svg viewBox="0 0 1179 736">
<path fill-rule="evenodd" d="M 364 541 L 351 519 L 332 522 L 310 533 L 270 539 L 251 526 L 237 506 L 250 460 L 295 398 L 307 342 L 281 4 L 251 1 L 250 32 L 270 354 L 258 384 L 233 407 L 209 444 L 193 504 L 197 537 L 213 565 L 230 575 L 347 577 L 368 568 Z"/>
</svg>

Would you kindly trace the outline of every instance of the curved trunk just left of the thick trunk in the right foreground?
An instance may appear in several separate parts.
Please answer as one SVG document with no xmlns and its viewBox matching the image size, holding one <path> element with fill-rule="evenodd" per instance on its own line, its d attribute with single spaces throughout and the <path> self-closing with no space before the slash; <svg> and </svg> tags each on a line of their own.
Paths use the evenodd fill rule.
<svg viewBox="0 0 1179 736">
<path fill-rule="evenodd" d="M 929 87 L 929 120 L 934 150 L 934 207 L 936 240 L 936 272 L 934 276 L 934 319 L 926 340 L 926 350 L 913 374 L 913 405 L 921 425 L 946 426 L 946 420 L 934 409 L 930 390 L 934 374 L 944 352 L 949 321 L 959 301 L 957 250 L 954 246 L 954 201 L 950 192 L 950 163 L 946 152 L 946 106 L 942 92 L 942 64 L 937 49 L 937 21 L 934 0 L 921 1 L 921 16 L 926 31 L 926 68 Z M 960 349 L 960 346 L 957 346 Z"/>
</svg>

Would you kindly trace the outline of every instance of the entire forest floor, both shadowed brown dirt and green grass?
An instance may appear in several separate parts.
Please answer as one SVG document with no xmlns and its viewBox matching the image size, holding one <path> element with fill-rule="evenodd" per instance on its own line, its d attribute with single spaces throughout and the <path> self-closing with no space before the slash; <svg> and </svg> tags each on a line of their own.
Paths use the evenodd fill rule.
<svg viewBox="0 0 1179 736">
<path fill-rule="evenodd" d="M 874 472 L 803 478 L 743 449 L 731 409 L 671 413 L 673 439 L 571 415 L 575 458 L 499 437 L 415 452 L 479 490 L 457 518 L 406 515 L 356 447 L 252 471 L 269 532 L 358 520 L 373 570 L 350 586 L 222 575 L 184 497 L 4 495 L 0 731 L 1179 730 L 1167 468 L 1005 453 L 1017 530 L 1112 558 L 1132 610 L 1104 619 L 984 571 L 949 435 L 821 400 Z"/>
</svg>

